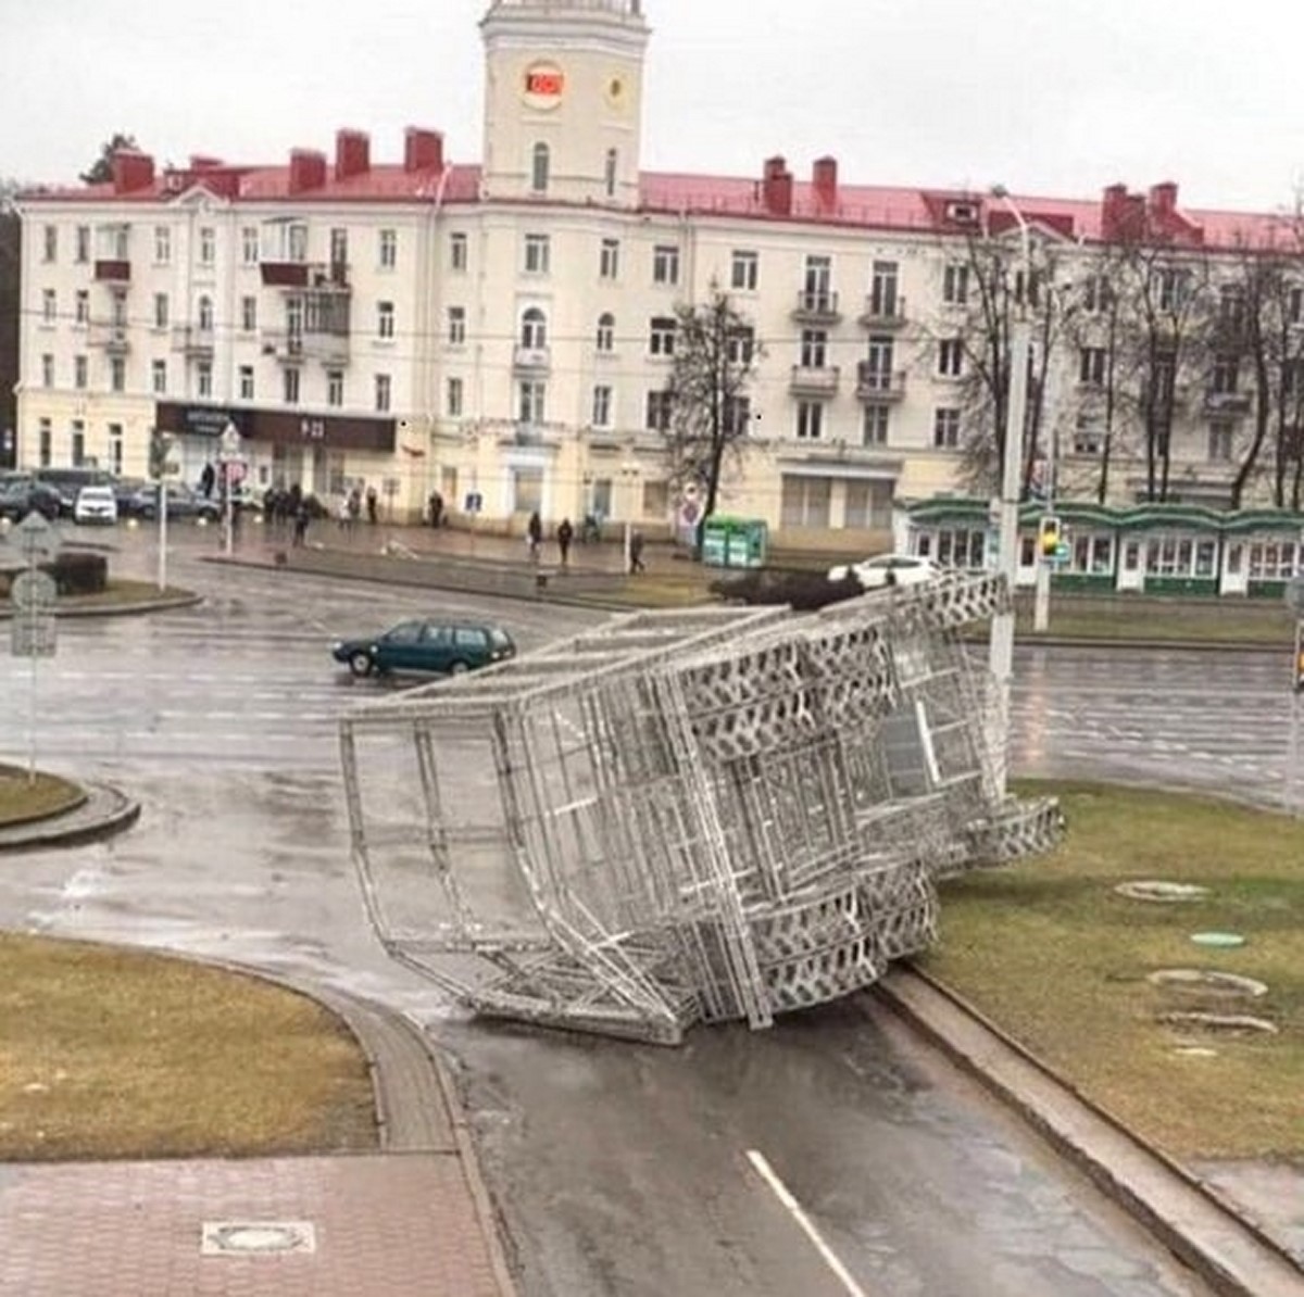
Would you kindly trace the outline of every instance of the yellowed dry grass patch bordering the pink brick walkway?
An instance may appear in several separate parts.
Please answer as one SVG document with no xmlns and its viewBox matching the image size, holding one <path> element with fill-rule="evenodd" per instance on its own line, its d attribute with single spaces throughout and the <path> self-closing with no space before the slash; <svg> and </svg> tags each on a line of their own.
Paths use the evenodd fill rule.
<svg viewBox="0 0 1304 1297">
<path fill-rule="evenodd" d="M 373 1150 L 366 1061 L 256 978 L 0 935 L 0 1159 Z"/>
</svg>

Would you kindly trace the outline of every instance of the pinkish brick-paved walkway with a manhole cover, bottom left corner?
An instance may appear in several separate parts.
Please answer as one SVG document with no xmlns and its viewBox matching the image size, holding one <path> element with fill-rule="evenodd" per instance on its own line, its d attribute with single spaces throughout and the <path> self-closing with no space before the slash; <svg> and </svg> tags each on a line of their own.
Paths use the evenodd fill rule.
<svg viewBox="0 0 1304 1297">
<path fill-rule="evenodd" d="M 499 1288 L 460 1159 L 420 1152 L 0 1167 L 0 1293 L 498 1297 Z"/>
</svg>

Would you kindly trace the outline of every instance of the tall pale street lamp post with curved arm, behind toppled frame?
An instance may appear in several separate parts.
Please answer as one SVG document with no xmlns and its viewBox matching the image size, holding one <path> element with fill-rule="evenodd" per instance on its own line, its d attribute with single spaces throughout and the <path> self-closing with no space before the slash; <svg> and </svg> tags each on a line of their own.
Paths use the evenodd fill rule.
<svg viewBox="0 0 1304 1297">
<path fill-rule="evenodd" d="M 1028 418 L 1028 353 L 1033 326 L 1028 317 L 1028 288 L 1031 279 L 1031 248 L 1028 222 L 1003 188 L 992 189 L 1018 222 L 1024 265 L 1024 293 L 1009 334 L 1009 394 L 1005 401 L 1005 447 L 1001 456 L 998 571 L 1009 589 L 1008 609 L 991 619 L 988 662 L 996 688 L 996 785 L 1001 795 L 1008 783 L 1011 693 L 1015 677 L 1015 587 L 1018 580 L 1018 497 L 1022 469 L 1024 425 Z"/>
</svg>

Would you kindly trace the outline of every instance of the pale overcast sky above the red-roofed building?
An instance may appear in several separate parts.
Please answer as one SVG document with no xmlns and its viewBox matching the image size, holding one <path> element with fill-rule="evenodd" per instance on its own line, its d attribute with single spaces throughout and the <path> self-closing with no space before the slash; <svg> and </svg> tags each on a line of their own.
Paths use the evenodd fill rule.
<svg viewBox="0 0 1304 1297">
<path fill-rule="evenodd" d="M 274 163 L 407 125 L 480 158 L 486 0 L 0 0 L 0 177 L 67 182 L 113 130 Z M 644 0 L 645 169 L 1005 184 L 1176 180 L 1277 210 L 1304 179 L 1299 0 Z"/>
</svg>

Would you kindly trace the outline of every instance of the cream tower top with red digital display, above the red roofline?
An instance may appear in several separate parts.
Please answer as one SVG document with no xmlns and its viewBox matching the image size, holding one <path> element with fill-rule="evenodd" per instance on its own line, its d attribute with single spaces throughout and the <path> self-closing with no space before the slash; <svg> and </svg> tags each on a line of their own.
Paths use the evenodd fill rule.
<svg viewBox="0 0 1304 1297">
<path fill-rule="evenodd" d="M 480 29 L 482 197 L 638 206 L 643 0 L 494 0 Z"/>
</svg>

